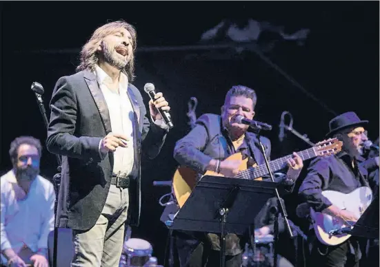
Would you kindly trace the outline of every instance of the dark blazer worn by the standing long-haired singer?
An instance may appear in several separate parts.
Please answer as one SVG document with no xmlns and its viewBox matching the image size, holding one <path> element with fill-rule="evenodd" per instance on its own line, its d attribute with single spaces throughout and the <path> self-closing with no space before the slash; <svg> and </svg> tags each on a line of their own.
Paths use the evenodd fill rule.
<svg viewBox="0 0 380 267">
<path fill-rule="evenodd" d="M 130 178 L 128 223 L 139 224 L 141 153 L 154 158 L 166 138 L 146 116 L 139 90 L 128 85 L 134 110 L 134 167 Z M 106 100 L 90 70 L 59 78 L 50 101 L 48 151 L 62 156 L 57 226 L 86 231 L 94 226 L 106 203 L 113 154 L 101 160 L 99 142 L 112 131 Z M 138 123 L 136 123 L 138 122 Z"/>
</svg>

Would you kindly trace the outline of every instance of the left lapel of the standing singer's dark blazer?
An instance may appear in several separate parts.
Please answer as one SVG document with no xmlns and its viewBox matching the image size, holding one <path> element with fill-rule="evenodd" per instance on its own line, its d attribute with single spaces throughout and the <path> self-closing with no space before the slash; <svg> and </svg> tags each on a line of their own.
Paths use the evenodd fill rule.
<svg viewBox="0 0 380 267">
<path fill-rule="evenodd" d="M 106 99 L 104 98 L 103 93 L 101 92 L 101 89 L 99 88 L 97 77 L 92 72 L 86 70 L 84 72 L 84 78 L 88 85 L 88 89 L 90 89 L 92 98 L 94 98 L 95 104 L 97 105 L 97 108 L 99 109 L 99 113 L 101 116 L 101 120 L 103 122 L 104 129 L 106 129 L 106 134 L 108 134 L 112 131 L 110 111 L 108 111 Z"/>
</svg>

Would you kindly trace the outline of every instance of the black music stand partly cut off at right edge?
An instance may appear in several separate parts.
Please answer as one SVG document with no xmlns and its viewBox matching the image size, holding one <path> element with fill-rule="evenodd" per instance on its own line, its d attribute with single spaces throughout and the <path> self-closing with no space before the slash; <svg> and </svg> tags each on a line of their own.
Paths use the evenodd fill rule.
<svg viewBox="0 0 380 267">
<path fill-rule="evenodd" d="M 379 238 L 379 195 L 374 197 L 370 206 L 360 216 L 350 231 L 350 235 L 370 239 Z"/>
</svg>

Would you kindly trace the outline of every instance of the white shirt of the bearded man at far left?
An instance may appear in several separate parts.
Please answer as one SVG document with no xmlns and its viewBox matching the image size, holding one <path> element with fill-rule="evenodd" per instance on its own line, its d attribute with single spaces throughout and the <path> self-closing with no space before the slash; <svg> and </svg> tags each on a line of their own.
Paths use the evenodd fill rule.
<svg viewBox="0 0 380 267">
<path fill-rule="evenodd" d="M 17 180 L 13 170 L 1 176 L 0 184 L 1 251 L 12 248 L 19 253 L 23 246 L 33 252 L 48 248 L 48 235 L 54 230 L 55 192 L 52 183 L 37 175 L 23 200 L 18 200 L 15 194 Z M 6 262 L 3 255 L 1 259 Z"/>
</svg>

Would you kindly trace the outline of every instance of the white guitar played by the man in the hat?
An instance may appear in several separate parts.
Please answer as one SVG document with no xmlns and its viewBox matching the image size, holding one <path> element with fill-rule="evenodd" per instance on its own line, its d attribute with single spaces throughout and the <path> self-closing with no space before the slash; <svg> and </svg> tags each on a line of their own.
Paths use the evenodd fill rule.
<svg viewBox="0 0 380 267">
<path fill-rule="evenodd" d="M 366 211 L 372 202 L 372 190 L 367 186 L 361 186 L 351 193 L 345 194 L 337 191 L 322 191 L 332 204 L 342 210 L 351 211 L 358 218 Z M 326 213 L 317 213 L 310 208 L 313 226 L 317 238 L 322 244 L 336 246 L 350 238 L 350 230 L 355 222 L 346 222 L 340 217 Z"/>
</svg>

